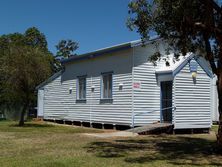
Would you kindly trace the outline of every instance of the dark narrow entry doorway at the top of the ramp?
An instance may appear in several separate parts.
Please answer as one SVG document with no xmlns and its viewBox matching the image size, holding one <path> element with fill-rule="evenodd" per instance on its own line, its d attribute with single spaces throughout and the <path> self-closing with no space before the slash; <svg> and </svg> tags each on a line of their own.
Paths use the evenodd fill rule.
<svg viewBox="0 0 222 167">
<path fill-rule="evenodd" d="M 172 122 L 172 81 L 161 82 L 162 122 Z M 170 108 L 170 109 L 165 109 Z"/>
</svg>

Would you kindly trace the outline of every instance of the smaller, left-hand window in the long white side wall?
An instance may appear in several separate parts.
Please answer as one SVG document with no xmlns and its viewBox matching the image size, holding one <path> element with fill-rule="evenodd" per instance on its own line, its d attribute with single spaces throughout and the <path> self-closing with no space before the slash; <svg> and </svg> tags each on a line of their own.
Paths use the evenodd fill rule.
<svg viewBox="0 0 222 167">
<path fill-rule="evenodd" d="M 86 99 L 86 77 L 78 77 L 77 81 L 77 99 Z"/>
</svg>

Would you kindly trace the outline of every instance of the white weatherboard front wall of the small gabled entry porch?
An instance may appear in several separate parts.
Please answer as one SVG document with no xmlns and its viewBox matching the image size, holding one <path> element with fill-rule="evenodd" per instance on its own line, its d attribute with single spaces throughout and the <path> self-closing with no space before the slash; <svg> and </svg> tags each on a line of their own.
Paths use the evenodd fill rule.
<svg viewBox="0 0 222 167">
<path fill-rule="evenodd" d="M 174 79 L 175 129 L 211 127 L 211 78 L 198 65 L 196 84 L 187 64 Z"/>
</svg>

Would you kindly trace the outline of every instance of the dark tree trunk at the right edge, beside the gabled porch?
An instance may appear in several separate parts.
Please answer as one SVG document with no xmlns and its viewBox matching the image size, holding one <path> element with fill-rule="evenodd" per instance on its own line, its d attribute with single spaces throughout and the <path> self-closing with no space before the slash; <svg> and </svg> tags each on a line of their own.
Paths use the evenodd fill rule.
<svg viewBox="0 0 222 167">
<path fill-rule="evenodd" d="M 219 111 L 219 128 L 217 134 L 217 142 L 219 145 L 219 149 L 222 150 L 222 72 L 218 75 L 217 80 L 217 92 L 218 92 L 218 111 Z"/>
</svg>

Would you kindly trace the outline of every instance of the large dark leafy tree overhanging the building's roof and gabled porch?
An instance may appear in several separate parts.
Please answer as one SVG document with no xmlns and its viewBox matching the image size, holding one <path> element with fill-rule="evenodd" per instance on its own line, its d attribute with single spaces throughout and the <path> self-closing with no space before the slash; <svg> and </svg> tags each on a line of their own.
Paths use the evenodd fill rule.
<svg viewBox="0 0 222 167">
<path fill-rule="evenodd" d="M 222 8 L 214 0 L 133 0 L 129 3 L 127 26 L 141 35 L 142 41 L 156 33 L 169 48 L 185 55 L 201 53 L 217 76 L 219 129 L 222 148 Z M 154 59 L 156 60 L 156 59 Z"/>
</svg>

